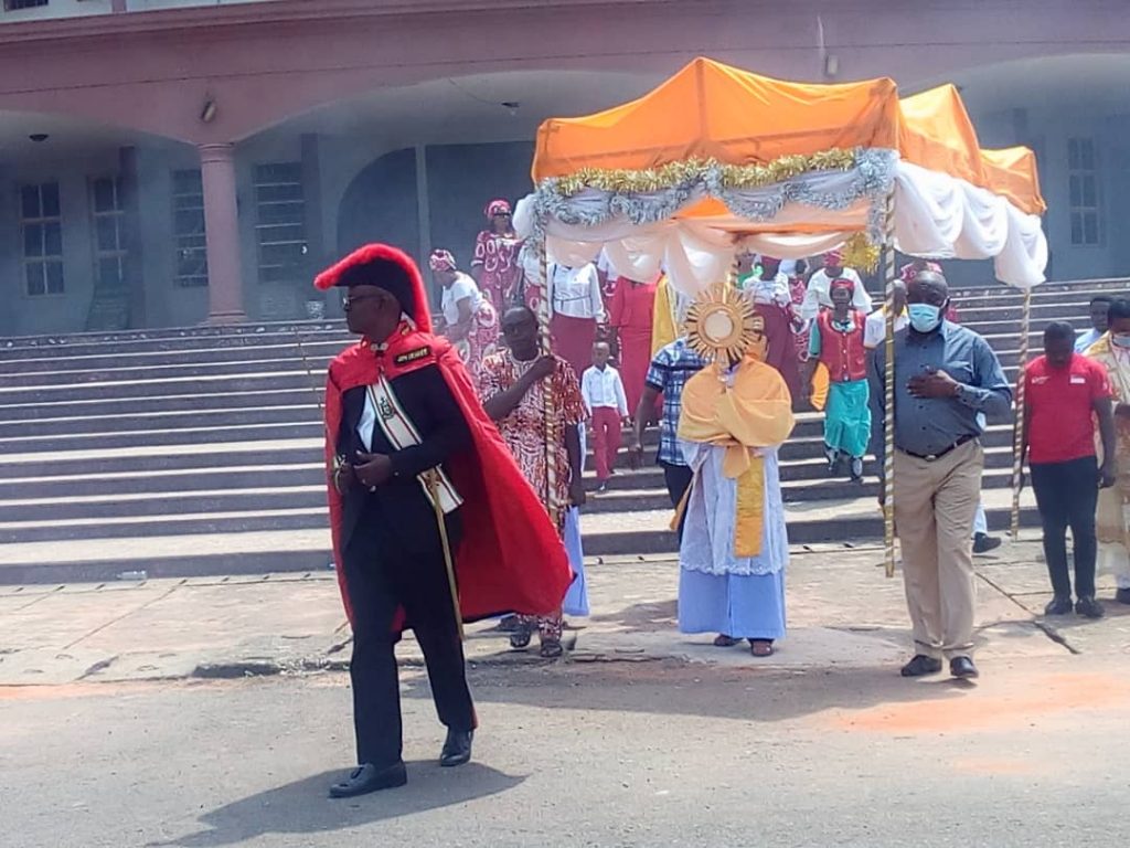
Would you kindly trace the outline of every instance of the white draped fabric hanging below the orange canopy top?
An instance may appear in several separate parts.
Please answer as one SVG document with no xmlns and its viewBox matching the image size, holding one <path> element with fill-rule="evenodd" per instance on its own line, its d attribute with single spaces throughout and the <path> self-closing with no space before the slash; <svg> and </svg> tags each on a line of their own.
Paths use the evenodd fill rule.
<svg viewBox="0 0 1130 848">
<path fill-rule="evenodd" d="M 828 197 L 835 197 L 837 191 L 844 197 L 846 185 L 844 174 L 834 173 L 806 175 L 803 188 L 809 198 L 818 197 L 822 190 L 832 192 Z M 894 187 L 895 241 L 904 253 L 936 259 L 993 259 L 997 278 L 1002 283 L 1031 288 L 1044 282 L 1048 240 L 1037 216 L 1026 215 L 1005 198 L 963 180 L 905 162 L 897 163 Z M 745 191 L 744 206 L 773 193 L 773 187 Z M 661 194 L 652 192 L 638 199 L 642 205 L 670 207 L 670 198 Z M 689 207 L 703 197 L 701 191 L 685 194 L 678 208 Z M 843 244 L 852 233 L 867 232 L 869 224 L 873 226 L 875 211 L 872 197 L 824 205 L 791 200 L 771 222 L 751 223 L 727 215 L 634 224 L 624 211 L 599 215 L 597 210 L 609 209 L 609 194 L 596 189 L 558 200 L 556 215 L 539 210 L 538 200 L 538 194 L 530 194 L 519 201 L 514 224 L 528 237 L 538 231 L 538 216 L 544 216 L 550 261 L 583 265 L 603 250 L 619 274 L 649 279 L 662 268 L 676 288 L 690 295 L 724 278 L 738 250 L 781 259 L 816 256 Z M 826 232 L 786 232 L 791 224 Z M 763 232 L 766 227 L 777 232 Z"/>
</svg>

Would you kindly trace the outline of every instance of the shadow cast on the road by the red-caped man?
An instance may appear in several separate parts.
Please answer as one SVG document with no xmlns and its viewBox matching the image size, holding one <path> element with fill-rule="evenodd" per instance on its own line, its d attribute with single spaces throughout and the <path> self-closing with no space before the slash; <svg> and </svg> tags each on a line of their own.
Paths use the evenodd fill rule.
<svg viewBox="0 0 1130 848">
<path fill-rule="evenodd" d="M 148 848 L 209 848 L 238 845 L 270 833 L 320 833 L 463 804 L 519 786 L 511 777 L 479 763 L 441 769 L 432 761 L 408 763 L 408 786 L 359 798 L 331 801 L 330 784 L 345 770 L 329 771 L 252 795 L 200 816 L 207 830 Z"/>
</svg>

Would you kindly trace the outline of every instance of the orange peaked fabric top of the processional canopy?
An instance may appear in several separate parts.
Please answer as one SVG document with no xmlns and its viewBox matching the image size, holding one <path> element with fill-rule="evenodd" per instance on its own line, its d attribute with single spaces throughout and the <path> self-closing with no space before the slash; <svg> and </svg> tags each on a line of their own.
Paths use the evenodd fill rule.
<svg viewBox="0 0 1130 848">
<path fill-rule="evenodd" d="M 690 158 L 767 164 L 855 147 L 897 148 L 904 161 L 1002 194 L 1026 213 L 1046 208 L 1031 152 L 981 150 L 954 86 L 899 101 L 886 77 L 842 85 L 785 83 L 704 58 L 631 103 L 545 121 L 533 179 Z"/>
</svg>

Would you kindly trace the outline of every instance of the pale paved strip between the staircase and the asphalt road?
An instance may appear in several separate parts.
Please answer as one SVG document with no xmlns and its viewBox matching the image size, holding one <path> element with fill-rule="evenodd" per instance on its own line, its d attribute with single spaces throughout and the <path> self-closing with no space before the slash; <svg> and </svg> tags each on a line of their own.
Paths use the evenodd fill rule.
<svg viewBox="0 0 1130 848">
<path fill-rule="evenodd" d="M 902 581 L 887 580 L 875 547 L 794 553 L 789 638 L 758 665 L 836 668 L 894 664 L 905 654 Z M 680 659 L 754 664 L 741 650 L 675 629 L 677 566 L 641 557 L 590 564 L 593 615 L 579 628 L 574 661 Z M 1097 624 L 1035 614 L 1048 579 L 1031 542 L 979 559 L 983 661 L 1053 656 L 1101 642 L 1130 644 L 1130 617 L 1112 605 Z M 1107 596 L 1110 586 L 1103 583 Z M 511 654 L 490 623 L 470 628 L 478 663 L 529 661 Z M 0 587 L 0 685 L 130 681 L 344 668 L 349 632 L 332 573 L 269 574 Z M 1051 638 L 1050 638 L 1051 637 Z M 1055 639 L 1066 640 L 1064 648 Z M 418 657 L 409 642 L 405 659 Z"/>
</svg>

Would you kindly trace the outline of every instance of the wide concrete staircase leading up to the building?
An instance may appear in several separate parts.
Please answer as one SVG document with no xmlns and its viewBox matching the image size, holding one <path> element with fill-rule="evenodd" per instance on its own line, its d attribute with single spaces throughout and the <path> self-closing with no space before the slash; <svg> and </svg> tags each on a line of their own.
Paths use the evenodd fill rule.
<svg viewBox="0 0 1130 848">
<path fill-rule="evenodd" d="M 1127 287 L 1044 287 L 1032 344 L 1053 319 L 1081 327 L 1095 291 Z M 957 302 L 1015 378 L 1019 295 L 996 286 Z M 325 569 L 319 405 L 349 340 L 334 322 L 0 339 L 0 582 Z M 875 484 L 829 479 L 820 432 L 802 414 L 782 449 L 791 539 L 877 537 Z M 985 445 L 984 501 L 1002 528 L 1011 423 L 992 422 Z M 623 470 L 585 509 L 585 553 L 670 552 L 669 519 L 659 470 Z"/>
</svg>

